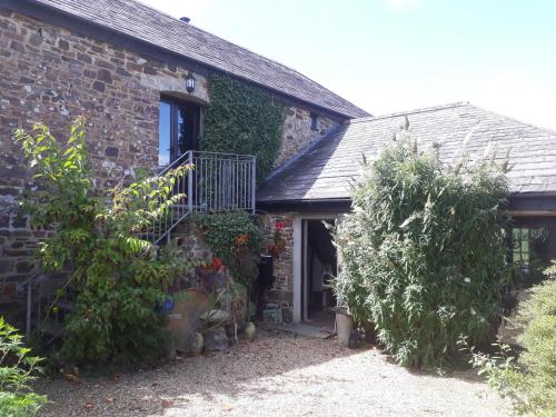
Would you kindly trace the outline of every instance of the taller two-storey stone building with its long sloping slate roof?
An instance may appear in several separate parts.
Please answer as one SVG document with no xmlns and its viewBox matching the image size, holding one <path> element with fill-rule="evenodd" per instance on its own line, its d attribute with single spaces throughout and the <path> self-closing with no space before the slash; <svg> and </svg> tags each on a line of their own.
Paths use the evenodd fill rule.
<svg viewBox="0 0 556 417">
<path fill-rule="evenodd" d="M 14 129 L 40 121 L 63 137 L 85 116 L 96 177 L 108 187 L 138 167 L 171 162 L 179 153 L 176 123 L 187 149 L 198 147 L 214 72 L 257 86 L 286 107 L 275 166 L 344 121 L 368 116 L 290 68 L 132 0 L 0 1 L 2 296 L 28 278 L 37 240 L 46 237 L 16 209 L 29 178 Z"/>
</svg>

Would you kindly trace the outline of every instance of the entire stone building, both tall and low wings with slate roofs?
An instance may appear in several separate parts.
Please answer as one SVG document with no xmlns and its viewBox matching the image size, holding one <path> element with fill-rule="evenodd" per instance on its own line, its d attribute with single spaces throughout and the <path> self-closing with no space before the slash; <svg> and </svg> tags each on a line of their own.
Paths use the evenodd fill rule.
<svg viewBox="0 0 556 417">
<path fill-rule="evenodd" d="M 373 160 L 406 117 L 414 138 L 440 143 L 443 160 L 469 132 L 474 159 L 489 145 L 500 158 L 510 148 L 510 209 L 516 230 L 527 230 L 518 236 L 540 236 L 543 256 L 556 257 L 554 131 L 468 103 L 370 117 L 288 67 L 133 0 L 0 0 L 0 301 L 28 279 L 37 241 L 48 237 L 17 212 L 29 175 L 14 129 L 41 121 L 63 136 L 86 116 L 98 183 L 110 186 L 198 150 L 211 73 L 257 86 L 286 107 L 276 169 L 249 208 L 268 234 L 282 228 L 270 296 L 291 304 L 295 320 L 334 304 L 324 277 L 337 259 L 321 221 L 349 211 L 361 155 Z"/>
</svg>

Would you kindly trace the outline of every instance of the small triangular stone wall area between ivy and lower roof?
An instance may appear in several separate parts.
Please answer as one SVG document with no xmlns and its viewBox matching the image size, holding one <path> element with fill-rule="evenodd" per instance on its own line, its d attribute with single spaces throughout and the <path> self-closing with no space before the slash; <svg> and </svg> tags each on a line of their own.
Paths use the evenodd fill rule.
<svg viewBox="0 0 556 417">
<path fill-rule="evenodd" d="M 317 127 L 311 129 L 311 112 L 299 107 L 288 107 L 284 122 L 280 151 L 275 166 L 278 167 L 325 136 L 338 122 L 324 116 L 317 117 Z"/>
</svg>

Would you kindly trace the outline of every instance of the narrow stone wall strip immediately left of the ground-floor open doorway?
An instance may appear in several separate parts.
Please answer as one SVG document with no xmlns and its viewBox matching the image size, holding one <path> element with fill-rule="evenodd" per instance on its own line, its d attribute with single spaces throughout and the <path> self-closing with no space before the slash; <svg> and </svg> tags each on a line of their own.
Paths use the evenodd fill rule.
<svg viewBox="0 0 556 417">
<path fill-rule="evenodd" d="M 267 214 L 261 216 L 261 227 L 270 239 L 276 230 L 276 224 L 280 222 L 281 237 L 285 240 L 284 250 L 274 257 L 276 281 L 268 291 L 271 301 L 294 301 L 294 215 L 292 214 Z"/>
</svg>

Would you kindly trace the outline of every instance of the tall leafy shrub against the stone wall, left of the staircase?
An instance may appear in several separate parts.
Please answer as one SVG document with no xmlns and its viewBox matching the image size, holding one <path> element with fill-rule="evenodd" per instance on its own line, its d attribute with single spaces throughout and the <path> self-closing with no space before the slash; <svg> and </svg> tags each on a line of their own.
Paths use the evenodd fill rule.
<svg viewBox="0 0 556 417">
<path fill-rule="evenodd" d="M 155 308 L 175 270 L 141 234 L 183 198 L 171 192 L 189 167 L 103 193 L 95 187 L 83 126 L 83 119 L 75 122 L 66 148 L 42 125 L 33 135 L 16 132 L 40 185 L 23 206 L 32 225 L 57 231 L 40 244 L 42 268 L 70 267 L 68 285 L 78 292 L 62 356 L 75 364 L 135 365 L 166 348 L 165 318 Z"/>
</svg>

